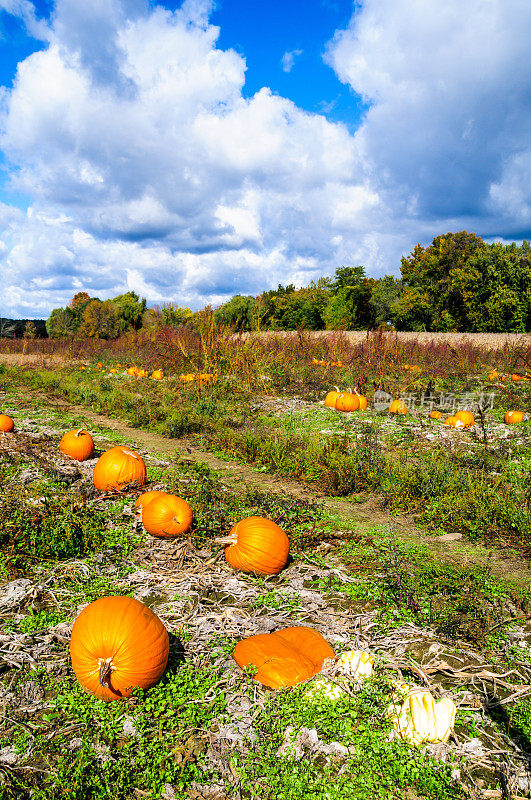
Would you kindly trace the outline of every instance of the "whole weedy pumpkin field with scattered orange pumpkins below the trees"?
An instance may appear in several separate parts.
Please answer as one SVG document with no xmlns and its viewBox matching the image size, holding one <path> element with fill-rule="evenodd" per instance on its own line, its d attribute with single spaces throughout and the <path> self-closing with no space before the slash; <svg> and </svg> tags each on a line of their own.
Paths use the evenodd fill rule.
<svg viewBox="0 0 531 800">
<path fill-rule="evenodd" d="M 31 347 L 2 800 L 531 797 L 524 337 Z"/>
</svg>

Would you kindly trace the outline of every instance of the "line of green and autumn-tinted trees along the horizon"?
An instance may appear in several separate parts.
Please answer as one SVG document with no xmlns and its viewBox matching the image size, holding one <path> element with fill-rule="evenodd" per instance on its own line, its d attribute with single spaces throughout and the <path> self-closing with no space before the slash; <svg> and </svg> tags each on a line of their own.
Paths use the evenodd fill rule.
<svg viewBox="0 0 531 800">
<path fill-rule="evenodd" d="M 293 284 L 256 297 L 236 295 L 212 311 L 219 326 L 237 331 L 360 330 L 531 331 L 531 246 L 489 244 L 474 233 L 436 236 L 402 258 L 401 277 L 369 278 L 363 266 L 342 266 L 333 277 L 300 289 Z M 159 324 L 194 326 L 205 312 L 173 303 L 147 309 L 127 292 L 112 300 L 78 292 L 46 321 L 49 336 L 113 339 Z"/>
</svg>

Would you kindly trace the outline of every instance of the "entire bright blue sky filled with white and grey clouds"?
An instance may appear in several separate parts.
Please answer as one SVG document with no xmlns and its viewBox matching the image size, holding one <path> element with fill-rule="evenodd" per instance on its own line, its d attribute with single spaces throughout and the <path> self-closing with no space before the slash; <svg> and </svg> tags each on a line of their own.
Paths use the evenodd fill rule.
<svg viewBox="0 0 531 800">
<path fill-rule="evenodd" d="M 527 0 L 0 0 L 0 314 L 531 237 L 530 29 Z"/>
</svg>

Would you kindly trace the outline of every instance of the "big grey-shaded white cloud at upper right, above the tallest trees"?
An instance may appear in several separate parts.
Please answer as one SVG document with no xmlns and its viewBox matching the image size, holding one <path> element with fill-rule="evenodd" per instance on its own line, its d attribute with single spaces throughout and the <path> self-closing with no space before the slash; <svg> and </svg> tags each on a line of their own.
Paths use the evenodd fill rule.
<svg viewBox="0 0 531 800">
<path fill-rule="evenodd" d="M 367 0 L 327 51 L 370 104 L 357 138 L 393 208 L 531 227 L 531 4 Z"/>
</svg>

